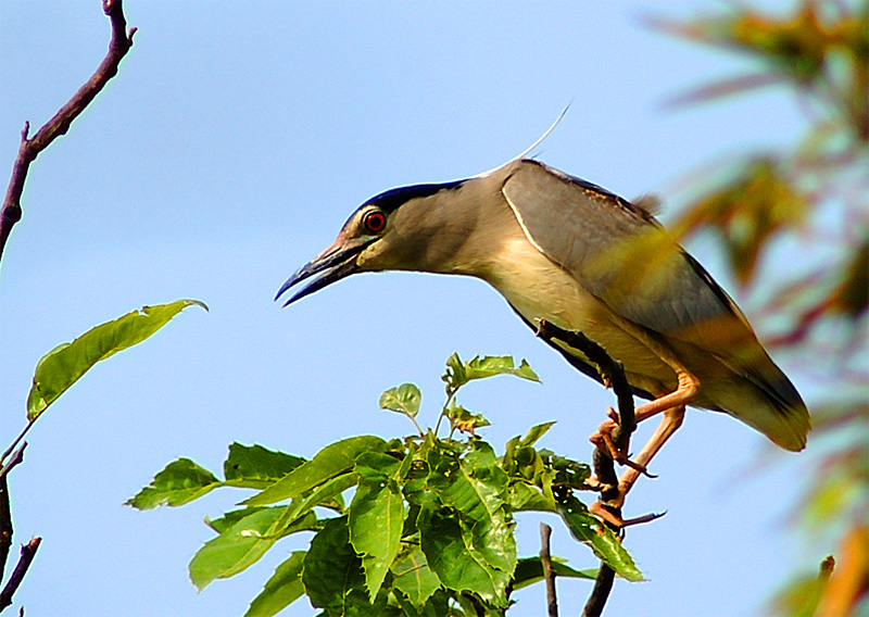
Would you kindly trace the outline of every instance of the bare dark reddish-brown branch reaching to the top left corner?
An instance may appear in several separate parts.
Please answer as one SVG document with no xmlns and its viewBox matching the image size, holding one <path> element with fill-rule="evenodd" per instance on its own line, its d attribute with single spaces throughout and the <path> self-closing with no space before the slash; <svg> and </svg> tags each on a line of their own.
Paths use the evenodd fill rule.
<svg viewBox="0 0 869 617">
<path fill-rule="evenodd" d="M 15 163 L 12 165 L 12 177 L 9 180 L 7 194 L 3 199 L 3 206 L 0 210 L 0 260 L 3 256 L 3 249 L 12 231 L 12 227 L 21 221 L 21 197 L 24 192 L 24 182 L 27 172 L 39 153 L 49 147 L 61 135 L 65 135 L 70 125 L 77 118 L 93 98 L 103 89 L 105 84 L 117 74 L 121 60 L 133 47 L 133 35 L 136 28 L 127 32 L 127 21 L 124 18 L 122 0 L 102 0 L 102 10 L 112 23 L 112 39 L 109 42 L 109 51 L 100 63 L 97 71 L 81 86 L 73 98 L 63 105 L 54 117 L 48 121 L 42 128 L 36 131 L 33 138 L 28 138 L 30 124 L 24 123 L 21 134 L 21 144 Z"/>
</svg>

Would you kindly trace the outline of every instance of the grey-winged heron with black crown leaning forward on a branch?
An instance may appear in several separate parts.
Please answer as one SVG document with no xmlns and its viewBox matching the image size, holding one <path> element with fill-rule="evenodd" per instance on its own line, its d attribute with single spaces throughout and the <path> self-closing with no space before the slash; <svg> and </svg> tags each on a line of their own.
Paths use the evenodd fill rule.
<svg viewBox="0 0 869 617">
<path fill-rule="evenodd" d="M 317 274 L 287 304 L 379 270 L 481 278 L 532 328 L 545 319 L 579 330 L 620 361 L 635 393 L 651 399 L 637 419 L 664 414 L 622 475 L 622 499 L 687 404 L 728 413 L 786 450 L 806 444 L 799 394 L 703 266 L 643 207 L 540 162 L 519 158 L 369 199 L 277 298 Z M 581 352 L 552 344 L 597 377 Z"/>
</svg>

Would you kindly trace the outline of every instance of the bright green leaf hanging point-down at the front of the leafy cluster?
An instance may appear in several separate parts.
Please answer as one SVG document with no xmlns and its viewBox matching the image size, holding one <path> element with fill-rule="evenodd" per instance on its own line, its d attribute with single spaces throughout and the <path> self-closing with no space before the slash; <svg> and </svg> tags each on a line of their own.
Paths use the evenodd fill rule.
<svg viewBox="0 0 869 617">
<path fill-rule="evenodd" d="M 356 489 L 349 514 L 350 541 L 362 556 L 365 585 L 374 601 L 399 554 L 404 496 L 394 480 L 363 481 Z"/>
</svg>

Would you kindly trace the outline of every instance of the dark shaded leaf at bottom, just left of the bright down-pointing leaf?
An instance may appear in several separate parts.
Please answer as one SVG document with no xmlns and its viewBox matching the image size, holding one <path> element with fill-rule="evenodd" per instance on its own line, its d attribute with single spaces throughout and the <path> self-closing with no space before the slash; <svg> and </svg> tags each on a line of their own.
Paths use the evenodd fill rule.
<svg viewBox="0 0 869 617">
<path fill-rule="evenodd" d="M 385 613 L 386 593 L 375 604 L 368 602 L 362 559 L 350 543 L 345 516 L 329 519 L 311 540 L 302 582 L 311 604 L 327 615 L 380 617 Z"/>
</svg>

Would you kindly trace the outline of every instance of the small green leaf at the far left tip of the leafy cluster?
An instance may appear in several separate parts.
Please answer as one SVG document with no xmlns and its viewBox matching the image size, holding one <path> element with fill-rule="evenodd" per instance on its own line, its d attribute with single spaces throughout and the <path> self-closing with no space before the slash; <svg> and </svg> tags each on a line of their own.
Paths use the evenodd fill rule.
<svg viewBox="0 0 869 617">
<path fill-rule="evenodd" d="M 151 509 L 161 505 L 179 506 L 201 498 L 221 481 L 189 458 L 178 458 L 160 471 L 151 483 L 124 505 Z"/>
</svg>

